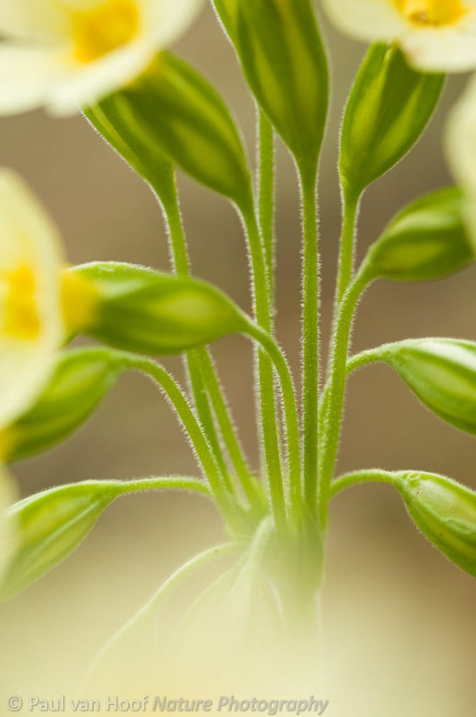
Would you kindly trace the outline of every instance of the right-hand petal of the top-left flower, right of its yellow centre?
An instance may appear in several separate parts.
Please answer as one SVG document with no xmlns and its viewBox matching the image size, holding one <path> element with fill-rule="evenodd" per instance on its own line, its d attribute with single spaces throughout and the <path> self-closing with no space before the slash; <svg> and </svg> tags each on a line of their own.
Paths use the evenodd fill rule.
<svg viewBox="0 0 476 717">
<path fill-rule="evenodd" d="M 204 0 L 141 0 L 146 34 L 157 47 L 169 47 L 194 22 Z"/>
</svg>

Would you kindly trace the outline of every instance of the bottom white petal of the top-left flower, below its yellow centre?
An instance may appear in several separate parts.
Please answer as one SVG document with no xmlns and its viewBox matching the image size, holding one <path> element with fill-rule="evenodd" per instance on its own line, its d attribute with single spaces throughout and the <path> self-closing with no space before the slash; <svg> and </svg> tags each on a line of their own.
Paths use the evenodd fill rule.
<svg viewBox="0 0 476 717">
<path fill-rule="evenodd" d="M 49 92 L 47 105 L 52 113 L 67 115 L 77 112 L 78 105 L 95 104 L 120 90 L 148 67 L 156 48 L 146 42 L 135 42 L 115 50 L 87 65 L 70 63 L 60 82 Z"/>
</svg>

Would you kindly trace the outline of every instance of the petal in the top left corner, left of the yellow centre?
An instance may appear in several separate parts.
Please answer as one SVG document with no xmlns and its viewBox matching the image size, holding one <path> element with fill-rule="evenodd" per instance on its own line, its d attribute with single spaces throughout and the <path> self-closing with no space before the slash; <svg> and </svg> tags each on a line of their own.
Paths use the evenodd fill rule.
<svg viewBox="0 0 476 717">
<path fill-rule="evenodd" d="M 70 27 L 63 0 L 1 0 L 0 33 L 20 39 L 58 39 Z"/>
</svg>

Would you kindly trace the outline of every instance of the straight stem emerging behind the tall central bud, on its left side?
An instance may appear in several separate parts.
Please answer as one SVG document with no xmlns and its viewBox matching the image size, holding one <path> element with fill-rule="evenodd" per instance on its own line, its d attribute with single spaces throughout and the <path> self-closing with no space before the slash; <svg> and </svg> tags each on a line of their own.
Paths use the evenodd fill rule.
<svg viewBox="0 0 476 717">
<path fill-rule="evenodd" d="M 275 135 L 265 113 L 258 112 L 258 204 L 270 303 L 275 292 Z"/>
</svg>

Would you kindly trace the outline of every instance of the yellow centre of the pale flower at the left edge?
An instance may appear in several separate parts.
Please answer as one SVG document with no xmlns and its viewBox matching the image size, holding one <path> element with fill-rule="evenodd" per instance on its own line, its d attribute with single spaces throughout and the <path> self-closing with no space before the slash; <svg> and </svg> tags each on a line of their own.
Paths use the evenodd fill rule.
<svg viewBox="0 0 476 717">
<path fill-rule="evenodd" d="M 0 280 L 6 286 L 4 332 L 23 341 L 34 341 L 41 332 L 36 303 L 36 279 L 32 267 L 20 265 L 4 272 Z"/>
</svg>

